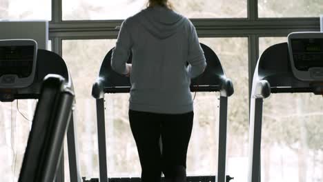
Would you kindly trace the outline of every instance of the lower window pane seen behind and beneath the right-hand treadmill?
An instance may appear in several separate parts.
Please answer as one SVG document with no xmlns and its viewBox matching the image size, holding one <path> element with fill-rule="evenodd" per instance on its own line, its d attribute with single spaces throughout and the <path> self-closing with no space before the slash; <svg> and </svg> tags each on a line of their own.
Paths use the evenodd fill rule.
<svg viewBox="0 0 323 182">
<path fill-rule="evenodd" d="M 286 37 L 260 38 L 260 52 Z M 322 181 L 323 103 L 314 94 L 272 94 L 264 101 L 262 181 Z"/>
</svg>

